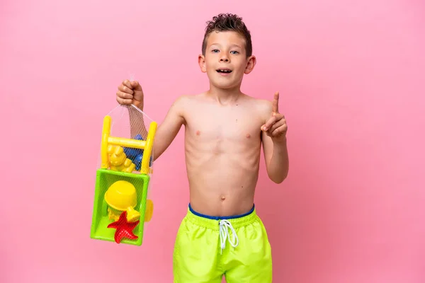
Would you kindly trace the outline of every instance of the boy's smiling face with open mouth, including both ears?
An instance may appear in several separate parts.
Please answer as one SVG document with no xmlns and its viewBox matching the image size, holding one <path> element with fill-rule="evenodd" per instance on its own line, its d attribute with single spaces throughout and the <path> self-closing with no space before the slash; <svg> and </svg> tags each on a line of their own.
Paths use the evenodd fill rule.
<svg viewBox="0 0 425 283">
<path fill-rule="evenodd" d="M 199 55 L 201 71 L 217 88 L 240 86 L 244 74 L 254 69 L 256 58 L 246 57 L 245 40 L 234 31 L 210 33 L 205 56 Z"/>
</svg>

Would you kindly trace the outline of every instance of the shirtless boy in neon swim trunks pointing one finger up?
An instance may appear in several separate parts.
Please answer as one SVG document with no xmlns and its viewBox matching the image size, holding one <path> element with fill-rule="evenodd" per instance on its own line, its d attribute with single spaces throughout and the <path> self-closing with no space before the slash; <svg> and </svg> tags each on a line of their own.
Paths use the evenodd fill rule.
<svg viewBox="0 0 425 283">
<path fill-rule="evenodd" d="M 242 18 L 220 14 L 208 22 L 198 57 L 210 81 L 208 91 L 177 98 L 154 140 L 154 158 L 185 127 L 190 202 L 174 248 L 174 282 L 268 283 L 271 246 L 256 214 L 254 192 L 261 145 L 268 177 L 288 175 L 287 125 L 279 94 L 261 100 L 240 91 L 254 69 L 251 35 Z M 116 99 L 143 110 L 142 87 L 125 80 Z M 143 123 L 142 123 L 143 124 Z"/>
</svg>

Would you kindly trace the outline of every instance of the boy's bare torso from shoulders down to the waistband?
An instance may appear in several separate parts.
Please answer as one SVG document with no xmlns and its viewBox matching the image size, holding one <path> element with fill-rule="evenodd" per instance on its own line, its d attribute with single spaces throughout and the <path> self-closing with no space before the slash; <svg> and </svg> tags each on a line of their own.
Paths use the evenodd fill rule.
<svg viewBox="0 0 425 283">
<path fill-rule="evenodd" d="M 187 98 L 185 150 L 191 205 L 212 216 L 249 211 L 259 175 L 266 102 L 243 96 L 220 105 L 204 95 Z"/>
</svg>

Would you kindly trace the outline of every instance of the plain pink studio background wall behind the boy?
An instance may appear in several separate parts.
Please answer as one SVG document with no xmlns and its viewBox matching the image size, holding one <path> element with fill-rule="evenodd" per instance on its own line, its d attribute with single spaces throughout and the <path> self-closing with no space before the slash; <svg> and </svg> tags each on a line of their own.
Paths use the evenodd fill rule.
<svg viewBox="0 0 425 283">
<path fill-rule="evenodd" d="M 205 91 L 203 29 L 223 11 L 252 32 L 243 90 L 280 91 L 288 119 L 289 177 L 262 164 L 256 195 L 273 282 L 425 282 L 424 3 L 248 3 L 1 1 L 0 282 L 172 282 L 183 131 L 155 164 L 144 245 L 117 245 L 89 238 L 102 119 L 129 72 L 158 122 Z"/>
</svg>

